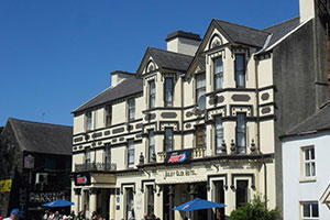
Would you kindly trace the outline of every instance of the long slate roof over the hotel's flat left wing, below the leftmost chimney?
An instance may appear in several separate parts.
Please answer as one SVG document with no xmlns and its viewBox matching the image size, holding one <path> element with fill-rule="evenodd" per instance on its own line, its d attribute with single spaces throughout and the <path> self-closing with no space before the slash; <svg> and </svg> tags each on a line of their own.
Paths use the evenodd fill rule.
<svg viewBox="0 0 330 220">
<path fill-rule="evenodd" d="M 141 79 L 136 79 L 135 77 L 127 78 L 120 81 L 114 87 L 109 87 L 103 92 L 99 94 L 82 106 L 78 107 L 73 111 L 73 113 L 77 113 L 99 105 L 114 101 L 117 99 L 141 92 L 142 90 L 143 87 Z"/>
</svg>

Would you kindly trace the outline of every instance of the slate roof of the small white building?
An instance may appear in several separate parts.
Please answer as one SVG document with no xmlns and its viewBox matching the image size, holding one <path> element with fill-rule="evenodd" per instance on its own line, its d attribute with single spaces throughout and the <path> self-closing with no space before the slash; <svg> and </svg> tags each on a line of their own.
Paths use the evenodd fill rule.
<svg viewBox="0 0 330 220">
<path fill-rule="evenodd" d="M 286 135 L 299 135 L 323 130 L 330 130 L 330 103 L 323 107 L 319 112 L 297 124 L 295 128 L 288 131 Z"/>
</svg>

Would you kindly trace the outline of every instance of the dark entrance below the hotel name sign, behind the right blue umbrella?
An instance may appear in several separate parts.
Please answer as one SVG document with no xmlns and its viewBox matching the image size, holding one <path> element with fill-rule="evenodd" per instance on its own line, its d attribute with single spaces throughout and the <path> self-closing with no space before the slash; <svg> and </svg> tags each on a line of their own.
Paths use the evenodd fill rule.
<svg viewBox="0 0 330 220">
<path fill-rule="evenodd" d="M 195 198 L 207 199 L 207 183 L 177 184 L 163 186 L 163 219 L 182 220 L 186 216 L 191 220 L 207 219 L 207 210 L 198 211 L 173 211 L 176 206 L 190 201 Z"/>
</svg>

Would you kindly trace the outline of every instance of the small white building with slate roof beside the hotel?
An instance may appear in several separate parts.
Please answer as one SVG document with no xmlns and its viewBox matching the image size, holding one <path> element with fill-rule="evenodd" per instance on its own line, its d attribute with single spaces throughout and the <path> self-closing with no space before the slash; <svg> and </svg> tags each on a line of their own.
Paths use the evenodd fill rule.
<svg viewBox="0 0 330 220">
<path fill-rule="evenodd" d="M 284 219 L 330 219 L 330 106 L 283 139 Z"/>
</svg>

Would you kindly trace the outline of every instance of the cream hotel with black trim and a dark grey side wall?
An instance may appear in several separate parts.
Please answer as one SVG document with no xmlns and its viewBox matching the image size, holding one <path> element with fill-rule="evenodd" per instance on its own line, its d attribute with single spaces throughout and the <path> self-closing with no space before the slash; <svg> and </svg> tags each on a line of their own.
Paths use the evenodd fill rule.
<svg viewBox="0 0 330 220">
<path fill-rule="evenodd" d="M 212 20 L 202 40 L 177 31 L 136 74 L 112 73 L 73 111 L 74 209 L 215 219 L 219 210 L 172 209 L 200 197 L 228 217 L 256 194 L 282 208 L 278 136 L 328 99 L 318 7 L 301 0 L 299 18 L 264 30 Z"/>
</svg>

